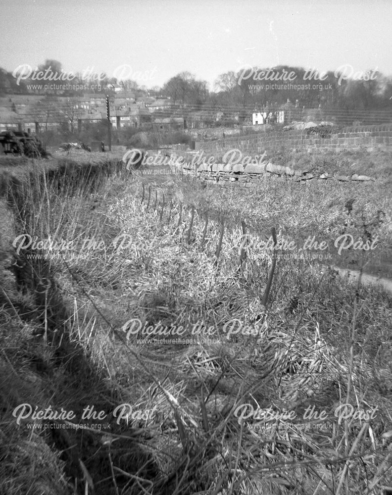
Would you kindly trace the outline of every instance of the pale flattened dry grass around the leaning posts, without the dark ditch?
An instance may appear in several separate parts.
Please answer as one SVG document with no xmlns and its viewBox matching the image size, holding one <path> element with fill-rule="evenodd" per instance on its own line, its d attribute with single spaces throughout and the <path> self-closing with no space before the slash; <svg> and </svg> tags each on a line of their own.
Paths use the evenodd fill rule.
<svg viewBox="0 0 392 495">
<path fill-rule="evenodd" d="M 269 183 L 244 193 L 202 189 L 174 177 L 147 183 L 133 175 L 111 177 L 88 192 L 70 188 L 73 194 L 67 195 L 48 184 L 35 197 L 28 228 L 39 238 L 72 241 L 66 256 L 45 254 L 68 308 L 69 345 L 83 349 L 100 378 L 93 381 L 87 369 L 75 368 L 68 376 L 64 363 L 56 364 L 56 349 L 37 343 L 41 350 L 34 347 L 34 352 L 45 356 L 53 371 L 45 386 L 38 379 L 28 390 L 15 386 L 19 396 L 11 400 L 4 390 L 9 379 L 3 381 L 1 399 L 8 405 L 0 435 L 6 438 L 2 456 L 13 466 L 3 478 L 9 493 L 22 493 L 19 483 L 26 486 L 31 479 L 30 471 L 17 475 L 15 466 L 25 461 L 12 453 L 23 443 L 26 427 L 17 436 L 8 435 L 15 429 L 9 413 L 19 399 L 41 407 L 52 401 L 64 408 L 95 402 L 107 411 L 120 403 L 131 404 L 134 411 L 154 410 L 150 417 L 122 421 L 116 434 L 134 435 L 142 429 L 138 442 L 152 455 L 158 472 L 143 471 L 146 457 L 140 451 L 134 454 L 138 460 L 125 462 L 113 430 L 106 444 L 98 432 L 91 433 L 83 458 L 88 474 L 84 485 L 78 485 L 90 493 L 88 476 L 98 494 L 370 494 L 391 486 L 390 296 L 351 285 L 308 261 L 278 258 L 265 307 L 271 252 L 255 248 L 256 243 L 245 246 L 239 271 L 241 220 L 258 243 L 275 227 L 278 240 L 294 239 L 299 245 L 308 235 L 331 242 L 342 229 L 363 236 L 364 224 L 383 209 L 385 221 L 374 224 L 370 235 L 390 242 L 388 196 L 376 196 L 372 187 L 366 186 L 365 196 L 361 186 L 326 184 L 322 190 L 318 185 Z M 357 201 L 347 215 L 344 204 L 352 195 Z M 20 228 L 12 222 L 9 217 L 4 227 L 8 238 Z M 118 236 L 126 240 L 122 246 Z M 101 248 L 90 244 L 89 249 L 87 238 L 101 242 Z M 7 246 L 9 242 L 5 251 Z M 11 366 L 20 384 L 26 374 L 35 374 L 31 364 L 22 366 L 12 339 L 25 343 L 31 357 L 29 335 L 40 323 L 27 324 L 12 312 L 20 303 L 29 305 L 32 295 L 16 293 L 6 265 L 9 302 L 1 300 L 6 311 L 0 347 L 6 376 Z M 203 322 L 213 341 L 141 343 L 122 331 L 132 318 L 149 325 L 182 325 L 187 338 L 195 337 L 191 328 Z M 225 324 L 233 319 L 254 335 L 228 336 Z M 36 374 L 42 380 L 42 373 Z M 346 402 L 361 409 L 377 406 L 375 419 L 347 418 L 338 424 L 334 410 Z M 255 410 L 293 410 L 297 416 L 293 422 L 249 417 L 239 423 L 234 411 L 242 404 Z M 315 428 L 304 426 L 301 417 L 308 406 L 325 410 L 329 420 Z M 29 441 L 29 448 L 41 448 L 36 438 Z M 107 449 L 105 457 L 99 457 L 102 448 Z M 100 463 L 90 462 L 97 455 Z M 47 487 L 62 469 L 56 453 L 50 466 Z M 42 464 L 37 469 L 44 471 Z M 107 481 L 100 483 L 103 473 Z M 77 476 L 82 479 L 83 471 Z"/>
</svg>

